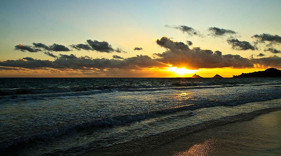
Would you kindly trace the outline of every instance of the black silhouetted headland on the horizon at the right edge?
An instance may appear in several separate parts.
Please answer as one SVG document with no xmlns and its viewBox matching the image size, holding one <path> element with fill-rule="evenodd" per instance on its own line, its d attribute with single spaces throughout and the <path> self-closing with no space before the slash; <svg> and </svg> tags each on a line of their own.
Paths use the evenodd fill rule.
<svg viewBox="0 0 281 156">
<path fill-rule="evenodd" d="M 281 77 L 281 70 L 276 68 L 268 68 L 265 71 L 255 71 L 252 73 L 242 73 L 233 77 Z"/>
</svg>

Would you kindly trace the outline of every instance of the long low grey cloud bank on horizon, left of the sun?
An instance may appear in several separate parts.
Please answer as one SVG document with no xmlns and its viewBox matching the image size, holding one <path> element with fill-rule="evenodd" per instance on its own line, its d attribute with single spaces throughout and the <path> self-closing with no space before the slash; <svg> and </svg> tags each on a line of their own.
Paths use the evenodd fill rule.
<svg viewBox="0 0 281 156">
<path fill-rule="evenodd" d="M 73 54 L 63 55 L 54 61 L 38 60 L 33 58 L 0 61 L 0 66 L 22 67 L 28 69 L 53 68 L 53 69 L 73 69 L 73 70 L 103 70 L 103 69 L 126 69 L 141 70 L 142 68 L 165 67 L 159 61 L 151 59 L 149 56 L 137 55 L 125 58 L 124 60 L 96 58 L 91 59 L 86 56 L 76 57 Z"/>
</svg>

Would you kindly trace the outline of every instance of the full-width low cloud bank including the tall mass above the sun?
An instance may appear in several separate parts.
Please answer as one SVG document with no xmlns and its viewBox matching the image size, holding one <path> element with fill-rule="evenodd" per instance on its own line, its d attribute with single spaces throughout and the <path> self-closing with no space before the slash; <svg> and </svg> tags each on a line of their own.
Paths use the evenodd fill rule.
<svg viewBox="0 0 281 156">
<path fill-rule="evenodd" d="M 75 56 L 73 54 L 59 54 L 54 61 L 40 60 L 32 57 L 24 57 L 18 60 L 0 61 L 2 67 L 17 67 L 25 69 L 53 69 L 60 71 L 82 70 L 94 72 L 106 72 L 117 70 L 142 70 L 144 68 L 163 69 L 168 64 L 178 68 L 253 68 L 257 67 L 281 67 L 281 58 L 271 56 L 266 58 L 244 58 L 239 55 L 226 54 L 221 51 L 189 48 L 183 42 L 173 41 L 168 37 L 161 37 L 156 41 L 159 46 L 165 47 L 163 53 L 153 54 L 154 58 L 147 55 L 137 55 L 129 58 L 113 55 L 112 59 L 91 58 L 89 56 Z"/>
</svg>

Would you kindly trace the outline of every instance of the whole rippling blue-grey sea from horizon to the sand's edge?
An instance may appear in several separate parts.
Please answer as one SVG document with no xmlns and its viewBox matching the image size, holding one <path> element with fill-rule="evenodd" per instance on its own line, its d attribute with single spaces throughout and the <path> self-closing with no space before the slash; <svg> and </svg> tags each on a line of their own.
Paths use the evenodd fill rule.
<svg viewBox="0 0 281 156">
<path fill-rule="evenodd" d="M 281 78 L 0 78 L 0 155 L 77 155 L 281 107 Z"/>
</svg>

